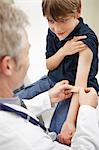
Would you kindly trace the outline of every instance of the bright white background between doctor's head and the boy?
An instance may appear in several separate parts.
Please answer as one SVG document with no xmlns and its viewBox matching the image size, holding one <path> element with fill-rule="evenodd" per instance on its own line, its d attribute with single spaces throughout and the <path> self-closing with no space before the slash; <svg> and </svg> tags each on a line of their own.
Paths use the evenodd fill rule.
<svg viewBox="0 0 99 150">
<path fill-rule="evenodd" d="M 47 22 L 42 15 L 41 0 L 15 0 L 14 2 L 27 13 L 31 24 L 29 30 L 31 49 L 28 77 L 30 82 L 33 82 L 47 73 L 45 65 Z"/>
</svg>

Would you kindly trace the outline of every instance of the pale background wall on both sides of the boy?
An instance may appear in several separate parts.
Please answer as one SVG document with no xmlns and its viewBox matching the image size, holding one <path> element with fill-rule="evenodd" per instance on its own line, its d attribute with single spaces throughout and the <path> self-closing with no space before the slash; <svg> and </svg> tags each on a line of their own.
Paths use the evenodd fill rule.
<svg viewBox="0 0 99 150">
<path fill-rule="evenodd" d="M 31 29 L 30 34 L 30 68 L 28 77 L 31 82 L 47 73 L 45 65 L 45 45 L 47 22 L 42 15 L 42 0 L 14 0 L 28 15 Z M 82 16 L 99 36 L 99 0 L 82 0 Z M 98 75 L 99 79 L 99 75 Z"/>
</svg>

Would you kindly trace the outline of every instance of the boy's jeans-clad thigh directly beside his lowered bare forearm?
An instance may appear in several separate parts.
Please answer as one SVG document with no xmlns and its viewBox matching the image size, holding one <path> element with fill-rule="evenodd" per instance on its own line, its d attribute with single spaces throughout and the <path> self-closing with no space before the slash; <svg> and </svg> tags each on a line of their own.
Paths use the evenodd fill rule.
<svg viewBox="0 0 99 150">
<path fill-rule="evenodd" d="M 70 99 L 58 103 L 50 123 L 51 131 L 54 131 L 56 133 L 59 133 L 61 131 L 61 127 L 67 117 L 69 106 Z"/>
</svg>

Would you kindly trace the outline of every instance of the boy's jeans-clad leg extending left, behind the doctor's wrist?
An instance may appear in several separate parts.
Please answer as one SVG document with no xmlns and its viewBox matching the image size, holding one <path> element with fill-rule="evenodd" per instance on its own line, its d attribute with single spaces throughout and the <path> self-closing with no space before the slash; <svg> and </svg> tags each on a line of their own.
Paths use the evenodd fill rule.
<svg viewBox="0 0 99 150">
<path fill-rule="evenodd" d="M 31 99 L 36 95 L 49 90 L 54 84 L 48 76 L 43 76 L 40 80 L 25 87 L 21 91 L 15 93 L 21 99 Z"/>
</svg>

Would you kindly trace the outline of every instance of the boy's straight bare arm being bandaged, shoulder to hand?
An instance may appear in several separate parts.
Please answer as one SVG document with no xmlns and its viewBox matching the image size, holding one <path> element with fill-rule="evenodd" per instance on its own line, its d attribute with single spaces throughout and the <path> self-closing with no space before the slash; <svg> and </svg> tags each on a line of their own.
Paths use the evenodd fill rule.
<svg viewBox="0 0 99 150">
<path fill-rule="evenodd" d="M 85 51 L 79 53 L 77 74 L 75 80 L 76 86 L 87 87 L 87 79 L 90 71 L 92 58 L 93 54 L 88 47 Z M 78 109 L 78 93 L 74 93 L 71 99 L 71 104 L 66 122 L 62 127 L 61 136 L 59 136 L 60 141 L 61 139 L 64 139 L 62 140 L 62 143 L 70 144 L 70 139 L 72 138 L 73 133 L 75 132 L 75 122 L 77 118 Z"/>
</svg>

